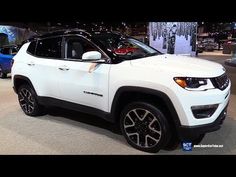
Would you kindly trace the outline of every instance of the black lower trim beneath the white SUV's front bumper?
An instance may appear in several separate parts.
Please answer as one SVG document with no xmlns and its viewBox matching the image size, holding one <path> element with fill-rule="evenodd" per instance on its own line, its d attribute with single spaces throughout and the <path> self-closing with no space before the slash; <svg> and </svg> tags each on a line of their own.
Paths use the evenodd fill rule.
<svg viewBox="0 0 236 177">
<path fill-rule="evenodd" d="M 205 124 L 205 125 L 197 125 L 197 126 L 180 126 L 178 128 L 180 140 L 191 141 L 198 138 L 201 134 L 205 134 L 207 132 L 212 132 L 212 131 L 216 131 L 220 129 L 221 124 L 226 118 L 227 107 L 228 107 L 228 104 L 220 113 L 218 118 L 212 123 Z"/>
</svg>

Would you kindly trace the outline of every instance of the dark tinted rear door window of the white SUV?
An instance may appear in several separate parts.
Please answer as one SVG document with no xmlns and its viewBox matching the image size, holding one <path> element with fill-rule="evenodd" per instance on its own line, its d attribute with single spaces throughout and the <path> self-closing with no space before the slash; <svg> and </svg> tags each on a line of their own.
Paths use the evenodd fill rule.
<svg viewBox="0 0 236 177">
<path fill-rule="evenodd" d="M 61 37 L 38 40 L 36 55 L 39 57 L 61 58 Z"/>
</svg>

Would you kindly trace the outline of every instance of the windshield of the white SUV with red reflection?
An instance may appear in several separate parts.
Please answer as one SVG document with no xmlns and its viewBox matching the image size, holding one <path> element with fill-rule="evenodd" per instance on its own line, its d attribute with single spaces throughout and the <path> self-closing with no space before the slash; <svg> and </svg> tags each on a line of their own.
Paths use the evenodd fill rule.
<svg viewBox="0 0 236 177">
<path fill-rule="evenodd" d="M 99 34 L 95 37 L 109 52 L 121 59 L 138 59 L 159 55 L 161 52 L 131 37 L 115 34 Z"/>
</svg>

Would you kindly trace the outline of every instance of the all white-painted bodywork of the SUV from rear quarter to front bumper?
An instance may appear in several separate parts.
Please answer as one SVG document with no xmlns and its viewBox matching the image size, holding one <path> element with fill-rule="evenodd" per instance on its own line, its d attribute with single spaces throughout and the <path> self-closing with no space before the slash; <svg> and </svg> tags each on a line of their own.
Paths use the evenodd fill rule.
<svg viewBox="0 0 236 177">
<path fill-rule="evenodd" d="M 174 77 L 217 77 L 224 73 L 220 64 L 181 55 L 158 55 L 124 61 L 119 64 L 99 64 L 89 73 L 92 63 L 40 59 L 25 54 L 25 44 L 14 57 L 13 76 L 22 74 L 29 77 L 40 96 L 94 107 L 106 112 L 116 91 L 122 86 L 137 86 L 162 91 L 173 102 L 182 125 L 195 126 L 213 122 L 220 114 L 228 98 L 230 85 L 224 91 L 187 91 L 179 87 Z M 27 66 L 34 61 L 35 66 Z M 59 68 L 65 68 L 60 70 Z M 84 93 L 92 92 L 101 96 Z M 215 114 L 207 119 L 195 119 L 191 106 L 219 104 Z"/>
</svg>

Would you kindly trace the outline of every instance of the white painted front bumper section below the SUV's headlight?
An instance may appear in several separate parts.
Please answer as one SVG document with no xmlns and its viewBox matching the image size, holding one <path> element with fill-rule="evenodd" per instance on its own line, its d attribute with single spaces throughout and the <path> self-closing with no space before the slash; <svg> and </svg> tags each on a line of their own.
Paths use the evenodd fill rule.
<svg viewBox="0 0 236 177">
<path fill-rule="evenodd" d="M 171 100 L 179 117 L 178 126 L 197 127 L 213 123 L 229 102 L 230 87 L 231 82 L 229 82 L 228 87 L 224 90 L 187 91 L 180 87 L 174 89 L 176 93 L 172 96 Z M 208 105 L 218 105 L 218 107 L 210 117 L 196 118 L 192 107 Z"/>
</svg>

